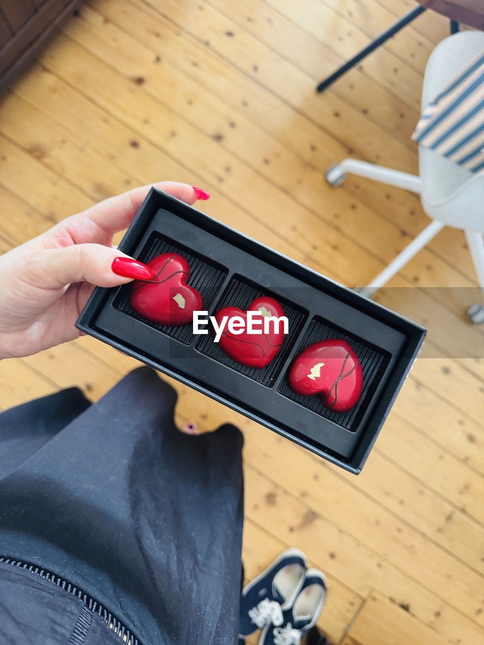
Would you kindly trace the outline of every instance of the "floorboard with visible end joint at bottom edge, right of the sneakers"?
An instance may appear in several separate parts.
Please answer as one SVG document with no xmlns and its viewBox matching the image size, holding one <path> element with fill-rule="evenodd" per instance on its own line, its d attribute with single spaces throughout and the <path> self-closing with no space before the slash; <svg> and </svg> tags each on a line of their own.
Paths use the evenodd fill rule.
<svg viewBox="0 0 484 645">
<path fill-rule="evenodd" d="M 447 639 L 414 618 L 385 596 L 372 591 L 365 600 L 348 636 L 361 645 L 444 645 Z"/>
</svg>

